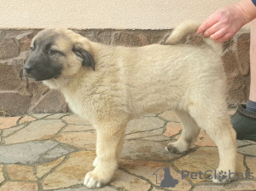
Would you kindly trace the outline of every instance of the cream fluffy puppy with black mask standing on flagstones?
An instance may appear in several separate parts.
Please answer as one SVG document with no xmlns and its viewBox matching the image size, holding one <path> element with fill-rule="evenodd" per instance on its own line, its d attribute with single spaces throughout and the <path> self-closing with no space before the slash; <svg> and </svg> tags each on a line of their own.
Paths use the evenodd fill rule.
<svg viewBox="0 0 256 191">
<path fill-rule="evenodd" d="M 95 169 L 84 185 L 101 188 L 118 165 L 126 124 L 145 113 L 173 110 L 183 123 L 166 150 L 183 153 L 206 130 L 218 146 L 218 171 L 235 171 L 236 132 L 225 101 L 221 47 L 211 39 L 199 46 L 177 44 L 200 26 L 178 26 L 166 45 L 130 48 L 91 42 L 65 29 L 47 29 L 32 40 L 24 66 L 27 77 L 61 90 L 74 113 L 96 128 Z M 213 175 L 213 182 L 229 182 Z"/>
</svg>

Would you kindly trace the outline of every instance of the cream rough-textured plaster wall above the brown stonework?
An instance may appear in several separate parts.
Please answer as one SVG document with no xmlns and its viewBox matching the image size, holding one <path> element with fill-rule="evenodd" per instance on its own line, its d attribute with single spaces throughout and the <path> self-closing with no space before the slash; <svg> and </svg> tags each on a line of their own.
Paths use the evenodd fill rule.
<svg viewBox="0 0 256 191">
<path fill-rule="evenodd" d="M 0 27 L 172 29 L 237 0 L 0 0 Z"/>
</svg>

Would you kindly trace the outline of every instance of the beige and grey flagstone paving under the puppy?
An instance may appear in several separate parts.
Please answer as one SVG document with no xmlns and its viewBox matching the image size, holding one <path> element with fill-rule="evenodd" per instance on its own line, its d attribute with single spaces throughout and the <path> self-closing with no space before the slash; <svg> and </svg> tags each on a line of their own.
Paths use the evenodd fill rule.
<svg viewBox="0 0 256 191">
<path fill-rule="evenodd" d="M 166 144 L 176 141 L 181 130 L 172 112 L 131 121 L 119 169 L 106 187 L 92 190 L 256 190 L 256 142 L 237 141 L 237 171 L 243 177 L 218 185 L 208 173 L 204 178 L 182 177 L 183 171 L 217 168 L 218 148 L 201 130 L 189 152 L 167 153 Z M 88 122 L 72 113 L 1 117 L 0 132 L 0 191 L 88 189 L 84 175 L 96 157 L 96 132 Z M 166 167 L 177 180 L 175 188 L 160 187 Z"/>
</svg>

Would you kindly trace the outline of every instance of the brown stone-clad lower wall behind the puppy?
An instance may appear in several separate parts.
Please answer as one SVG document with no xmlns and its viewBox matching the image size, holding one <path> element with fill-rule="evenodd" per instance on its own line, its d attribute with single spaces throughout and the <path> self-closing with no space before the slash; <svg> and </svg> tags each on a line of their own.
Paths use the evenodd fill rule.
<svg viewBox="0 0 256 191">
<path fill-rule="evenodd" d="M 24 78 L 22 67 L 32 38 L 40 30 L 0 30 L 0 115 L 24 113 L 63 113 L 67 103 L 57 90 L 49 90 L 41 82 Z M 172 30 L 82 30 L 92 41 L 124 46 L 144 46 L 163 43 Z M 249 38 L 242 32 L 224 43 L 224 68 L 228 77 L 230 107 L 247 101 L 249 93 Z M 187 43 L 200 44 L 200 38 Z"/>
</svg>

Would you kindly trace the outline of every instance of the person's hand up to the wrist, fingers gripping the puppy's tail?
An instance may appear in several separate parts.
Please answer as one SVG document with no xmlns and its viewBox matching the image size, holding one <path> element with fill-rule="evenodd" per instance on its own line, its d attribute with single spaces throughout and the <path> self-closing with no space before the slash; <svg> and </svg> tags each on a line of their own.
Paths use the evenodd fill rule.
<svg viewBox="0 0 256 191">
<path fill-rule="evenodd" d="M 215 42 L 223 42 L 233 37 L 247 23 L 239 4 L 218 9 L 197 29 L 203 38 L 210 37 Z"/>
</svg>

